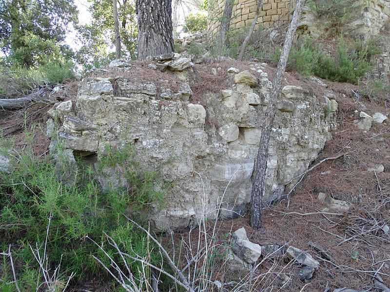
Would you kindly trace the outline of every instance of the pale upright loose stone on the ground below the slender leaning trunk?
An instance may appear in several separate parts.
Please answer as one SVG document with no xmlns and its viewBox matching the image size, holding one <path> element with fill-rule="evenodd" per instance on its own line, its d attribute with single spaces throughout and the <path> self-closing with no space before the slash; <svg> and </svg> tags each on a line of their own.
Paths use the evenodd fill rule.
<svg viewBox="0 0 390 292">
<path fill-rule="evenodd" d="M 255 244 L 248 239 L 244 227 L 234 232 L 232 246 L 234 255 L 238 256 L 248 264 L 254 264 L 261 256 L 260 245 Z"/>
</svg>

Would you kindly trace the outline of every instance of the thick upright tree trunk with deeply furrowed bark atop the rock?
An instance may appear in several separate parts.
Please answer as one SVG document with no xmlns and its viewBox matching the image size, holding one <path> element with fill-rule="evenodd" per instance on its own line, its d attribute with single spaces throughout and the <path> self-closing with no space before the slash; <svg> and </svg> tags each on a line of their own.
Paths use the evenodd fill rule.
<svg viewBox="0 0 390 292">
<path fill-rule="evenodd" d="M 174 51 L 171 0 L 137 0 L 138 59 Z"/>
</svg>

